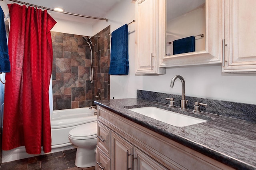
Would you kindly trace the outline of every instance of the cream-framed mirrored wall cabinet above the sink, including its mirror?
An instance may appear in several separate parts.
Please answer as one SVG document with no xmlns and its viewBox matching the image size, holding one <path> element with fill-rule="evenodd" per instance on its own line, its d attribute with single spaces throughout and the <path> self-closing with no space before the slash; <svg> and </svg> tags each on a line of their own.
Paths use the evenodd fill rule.
<svg viewBox="0 0 256 170">
<path fill-rule="evenodd" d="M 159 67 L 221 63 L 222 0 L 161 1 Z M 177 53 L 178 42 L 191 36 L 194 50 Z"/>
</svg>

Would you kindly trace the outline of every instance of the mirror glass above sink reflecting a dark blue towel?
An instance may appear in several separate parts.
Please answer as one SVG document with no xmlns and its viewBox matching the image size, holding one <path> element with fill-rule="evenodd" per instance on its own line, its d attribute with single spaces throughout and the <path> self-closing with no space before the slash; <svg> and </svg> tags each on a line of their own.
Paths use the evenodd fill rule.
<svg viewBox="0 0 256 170">
<path fill-rule="evenodd" d="M 166 0 L 166 56 L 205 50 L 205 14 L 205 0 Z"/>
</svg>

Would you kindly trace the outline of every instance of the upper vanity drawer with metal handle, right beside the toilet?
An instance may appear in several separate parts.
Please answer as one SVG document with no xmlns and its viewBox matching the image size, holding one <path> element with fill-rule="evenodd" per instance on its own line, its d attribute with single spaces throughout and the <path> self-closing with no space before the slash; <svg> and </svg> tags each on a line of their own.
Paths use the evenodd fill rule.
<svg viewBox="0 0 256 170">
<path fill-rule="evenodd" d="M 97 121 L 97 125 L 97 145 L 108 157 L 110 157 L 111 130 L 99 121 Z"/>
</svg>

